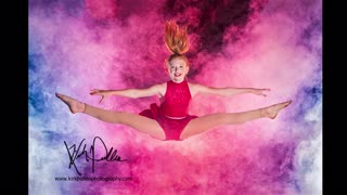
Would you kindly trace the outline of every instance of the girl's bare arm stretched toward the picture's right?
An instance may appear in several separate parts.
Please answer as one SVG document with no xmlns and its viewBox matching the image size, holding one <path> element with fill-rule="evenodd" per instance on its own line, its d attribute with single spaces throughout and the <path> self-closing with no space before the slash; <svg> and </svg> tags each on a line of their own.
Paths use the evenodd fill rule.
<svg viewBox="0 0 347 195">
<path fill-rule="evenodd" d="M 253 93 L 256 95 L 266 96 L 265 92 L 270 91 L 270 89 L 256 89 L 256 88 L 211 88 L 202 84 L 190 84 L 192 95 L 197 93 L 207 93 L 219 96 L 231 96 L 242 93 Z"/>
</svg>

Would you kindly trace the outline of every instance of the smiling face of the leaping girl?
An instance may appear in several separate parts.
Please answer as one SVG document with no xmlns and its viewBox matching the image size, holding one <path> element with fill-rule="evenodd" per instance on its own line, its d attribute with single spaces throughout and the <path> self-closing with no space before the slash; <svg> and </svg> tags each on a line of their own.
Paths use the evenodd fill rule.
<svg viewBox="0 0 347 195">
<path fill-rule="evenodd" d="M 168 74 L 174 82 L 182 82 L 188 72 L 189 66 L 181 57 L 175 57 L 168 63 Z"/>
</svg>

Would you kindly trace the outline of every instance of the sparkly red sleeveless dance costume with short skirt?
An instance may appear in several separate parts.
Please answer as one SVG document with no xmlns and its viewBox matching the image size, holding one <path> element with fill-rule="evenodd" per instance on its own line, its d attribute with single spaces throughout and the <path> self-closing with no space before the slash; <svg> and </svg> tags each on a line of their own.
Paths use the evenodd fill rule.
<svg viewBox="0 0 347 195">
<path fill-rule="evenodd" d="M 187 80 L 180 83 L 170 80 L 164 98 L 160 99 L 160 106 L 153 103 L 151 109 L 145 109 L 140 115 L 156 120 L 165 132 L 165 140 L 180 140 L 188 122 L 197 117 L 188 114 L 191 99 Z"/>
</svg>

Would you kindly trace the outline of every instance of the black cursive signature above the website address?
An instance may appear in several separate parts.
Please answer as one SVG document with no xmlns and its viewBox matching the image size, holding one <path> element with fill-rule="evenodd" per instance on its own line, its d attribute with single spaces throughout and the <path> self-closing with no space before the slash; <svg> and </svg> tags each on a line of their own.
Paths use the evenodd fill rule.
<svg viewBox="0 0 347 195">
<path fill-rule="evenodd" d="M 90 146 L 89 148 L 89 153 L 87 152 L 86 147 L 87 144 L 83 144 L 86 139 L 83 139 L 78 147 L 76 148 L 76 144 L 68 146 L 67 143 L 64 141 L 65 147 L 67 150 L 67 154 L 68 154 L 68 158 L 69 158 L 69 165 L 68 168 L 70 169 L 72 166 L 74 166 L 75 170 L 77 171 L 77 173 L 79 176 L 81 176 L 81 173 L 78 171 L 77 166 L 75 164 L 75 160 L 78 159 L 81 156 L 85 156 L 86 161 L 91 160 L 92 164 L 92 172 L 94 172 L 94 166 L 95 166 L 95 161 L 102 161 L 102 160 L 106 160 L 106 161 L 126 161 L 126 159 L 121 159 L 120 156 L 117 155 L 117 150 L 113 150 L 113 147 L 111 147 L 111 150 L 108 151 L 104 141 L 100 138 L 100 136 L 95 136 L 93 139 L 93 144 Z M 95 143 L 97 141 L 99 141 L 104 151 L 105 151 L 105 156 L 102 156 L 101 158 L 95 158 Z M 91 156 L 89 156 L 91 155 Z"/>
</svg>

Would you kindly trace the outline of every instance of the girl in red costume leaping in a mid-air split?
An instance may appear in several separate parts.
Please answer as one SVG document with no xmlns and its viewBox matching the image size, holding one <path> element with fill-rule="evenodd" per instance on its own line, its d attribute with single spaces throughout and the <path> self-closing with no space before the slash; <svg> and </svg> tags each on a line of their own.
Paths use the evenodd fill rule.
<svg viewBox="0 0 347 195">
<path fill-rule="evenodd" d="M 110 95 L 127 98 L 144 98 L 158 95 L 160 105 L 151 104 L 150 109 L 140 114 L 106 110 L 82 103 L 70 96 L 55 93 L 73 114 L 83 113 L 100 120 L 112 123 L 124 123 L 158 140 L 184 140 L 221 125 L 243 123 L 258 118 L 274 119 L 278 113 L 288 106 L 292 101 L 282 102 L 258 109 L 242 113 L 216 113 L 206 116 L 193 116 L 188 107 L 191 99 L 197 93 L 231 96 L 241 93 L 253 93 L 266 96 L 269 89 L 254 88 L 210 88 L 187 81 L 190 68 L 183 55 L 189 48 L 187 26 L 180 28 L 176 22 L 165 24 L 165 43 L 172 53 L 166 60 L 165 70 L 170 80 L 146 89 L 99 90 L 90 91 L 91 95 L 101 95 L 100 102 Z"/>
</svg>

